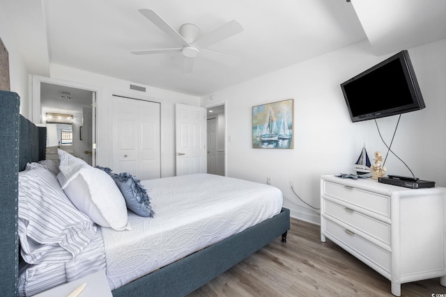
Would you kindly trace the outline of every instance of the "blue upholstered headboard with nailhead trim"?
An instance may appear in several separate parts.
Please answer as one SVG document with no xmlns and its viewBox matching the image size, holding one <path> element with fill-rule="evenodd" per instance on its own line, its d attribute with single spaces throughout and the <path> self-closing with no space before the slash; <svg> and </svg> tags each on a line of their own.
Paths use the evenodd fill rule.
<svg viewBox="0 0 446 297">
<path fill-rule="evenodd" d="M 18 172 L 45 159 L 46 128 L 20 115 L 20 97 L 0 90 L 0 292 L 17 296 Z"/>
</svg>

